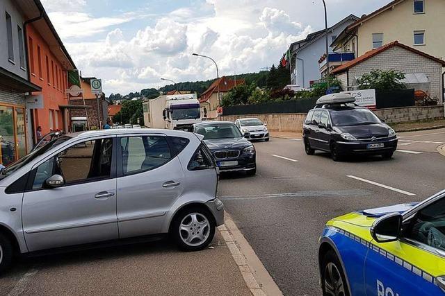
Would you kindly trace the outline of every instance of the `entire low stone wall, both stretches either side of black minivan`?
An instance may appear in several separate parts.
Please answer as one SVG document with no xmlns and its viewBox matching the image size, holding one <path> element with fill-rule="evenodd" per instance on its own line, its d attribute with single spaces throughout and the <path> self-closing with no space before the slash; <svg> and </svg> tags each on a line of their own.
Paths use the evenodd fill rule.
<svg viewBox="0 0 445 296">
<path fill-rule="evenodd" d="M 374 113 L 386 123 L 444 119 L 444 106 L 399 107 L 375 110 Z M 220 116 L 220 120 L 236 121 L 240 118 L 254 117 L 266 123 L 268 130 L 273 132 L 302 132 L 306 115 L 305 113 L 223 115 Z"/>
</svg>

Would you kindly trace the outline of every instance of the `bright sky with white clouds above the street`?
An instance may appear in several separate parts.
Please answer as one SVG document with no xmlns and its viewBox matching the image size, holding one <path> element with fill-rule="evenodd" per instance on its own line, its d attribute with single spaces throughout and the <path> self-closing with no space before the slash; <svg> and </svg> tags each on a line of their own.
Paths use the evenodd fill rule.
<svg viewBox="0 0 445 296">
<path fill-rule="evenodd" d="M 330 24 L 389 0 L 326 0 Z M 83 76 L 127 94 L 277 64 L 291 42 L 324 26 L 321 0 L 42 0 Z"/>
</svg>

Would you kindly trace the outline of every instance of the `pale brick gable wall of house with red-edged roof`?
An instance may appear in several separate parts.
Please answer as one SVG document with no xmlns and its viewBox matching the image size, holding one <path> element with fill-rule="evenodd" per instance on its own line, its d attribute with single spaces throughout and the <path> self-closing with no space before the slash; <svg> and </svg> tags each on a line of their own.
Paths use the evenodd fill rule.
<svg viewBox="0 0 445 296">
<path fill-rule="evenodd" d="M 407 51 L 399 46 L 387 49 L 373 58 L 349 69 L 348 85 L 355 77 L 369 73 L 372 69 L 395 69 L 404 73 L 425 73 L 430 79 L 430 96 L 442 102 L 442 65 L 422 55 Z"/>
</svg>

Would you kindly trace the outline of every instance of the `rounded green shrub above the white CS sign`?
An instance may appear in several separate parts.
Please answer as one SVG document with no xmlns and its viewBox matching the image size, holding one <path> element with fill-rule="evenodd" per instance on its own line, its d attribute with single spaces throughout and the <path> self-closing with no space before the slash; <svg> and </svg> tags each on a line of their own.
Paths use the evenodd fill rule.
<svg viewBox="0 0 445 296">
<path fill-rule="evenodd" d="M 405 89 L 404 78 L 402 71 L 373 69 L 357 79 L 357 85 L 359 89 Z"/>
</svg>

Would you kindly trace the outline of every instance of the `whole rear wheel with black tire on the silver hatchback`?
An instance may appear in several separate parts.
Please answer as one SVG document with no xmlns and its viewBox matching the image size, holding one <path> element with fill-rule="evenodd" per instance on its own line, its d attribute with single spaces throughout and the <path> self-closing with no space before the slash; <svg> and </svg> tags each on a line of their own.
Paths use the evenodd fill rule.
<svg viewBox="0 0 445 296">
<path fill-rule="evenodd" d="M 170 236 L 179 249 L 186 252 L 203 250 L 215 236 L 215 219 L 201 207 L 180 211 L 172 222 Z"/>
</svg>

